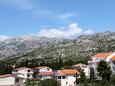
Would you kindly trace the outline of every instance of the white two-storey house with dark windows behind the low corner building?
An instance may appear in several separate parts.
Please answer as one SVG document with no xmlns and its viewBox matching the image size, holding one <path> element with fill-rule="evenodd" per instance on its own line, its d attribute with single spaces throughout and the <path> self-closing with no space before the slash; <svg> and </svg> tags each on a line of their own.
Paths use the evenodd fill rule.
<svg viewBox="0 0 115 86">
<path fill-rule="evenodd" d="M 27 67 L 16 68 L 12 70 L 12 74 L 19 74 L 18 76 L 24 78 L 26 82 L 28 79 L 33 79 L 33 69 Z"/>
</svg>

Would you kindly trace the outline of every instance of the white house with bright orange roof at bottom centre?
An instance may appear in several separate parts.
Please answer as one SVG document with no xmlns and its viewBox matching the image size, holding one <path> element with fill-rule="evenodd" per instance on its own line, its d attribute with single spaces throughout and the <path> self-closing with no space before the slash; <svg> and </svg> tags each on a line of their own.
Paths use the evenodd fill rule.
<svg viewBox="0 0 115 86">
<path fill-rule="evenodd" d="M 58 70 L 55 73 L 57 80 L 61 83 L 61 86 L 75 86 L 76 75 L 79 75 L 79 71 L 75 69 L 63 69 Z"/>
</svg>

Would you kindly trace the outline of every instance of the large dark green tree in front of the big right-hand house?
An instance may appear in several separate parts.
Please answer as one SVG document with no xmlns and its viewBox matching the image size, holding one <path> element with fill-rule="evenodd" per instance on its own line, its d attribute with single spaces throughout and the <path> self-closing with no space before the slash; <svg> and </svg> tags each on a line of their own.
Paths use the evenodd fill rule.
<svg viewBox="0 0 115 86">
<path fill-rule="evenodd" d="M 106 61 L 102 60 L 99 62 L 97 66 L 97 71 L 98 75 L 102 78 L 102 80 L 110 81 L 112 71 Z"/>
</svg>

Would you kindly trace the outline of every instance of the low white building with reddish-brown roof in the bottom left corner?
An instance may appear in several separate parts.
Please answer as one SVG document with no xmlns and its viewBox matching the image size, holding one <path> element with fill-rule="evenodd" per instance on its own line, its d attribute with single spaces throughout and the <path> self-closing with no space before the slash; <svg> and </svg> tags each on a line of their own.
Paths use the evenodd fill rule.
<svg viewBox="0 0 115 86">
<path fill-rule="evenodd" d="M 24 86 L 23 78 L 18 74 L 0 75 L 0 86 Z"/>
</svg>

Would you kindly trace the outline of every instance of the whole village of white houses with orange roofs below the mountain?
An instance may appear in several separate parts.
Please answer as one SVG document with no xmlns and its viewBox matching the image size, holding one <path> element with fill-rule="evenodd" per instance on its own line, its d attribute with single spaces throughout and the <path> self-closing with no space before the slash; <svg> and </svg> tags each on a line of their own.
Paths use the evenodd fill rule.
<svg viewBox="0 0 115 86">
<path fill-rule="evenodd" d="M 82 77 L 80 74 L 82 70 L 87 79 L 91 78 L 91 70 L 93 69 L 95 79 L 102 80 L 102 77 L 98 75 L 97 66 L 99 62 L 103 60 L 109 64 L 112 75 L 114 75 L 115 64 L 113 61 L 115 61 L 115 52 L 106 52 L 92 56 L 88 61 L 88 65 L 79 63 L 69 68 L 61 68 L 59 70 L 53 70 L 47 65 L 35 68 L 15 68 L 14 65 L 12 74 L 0 75 L 0 86 L 25 86 L 29 81 L 36 80 L 39 82 L 52 78 L 58 81 L 60 86 L 79 86 L 79 81 L 77 81 L 77 79 Z"/>
</svg>

